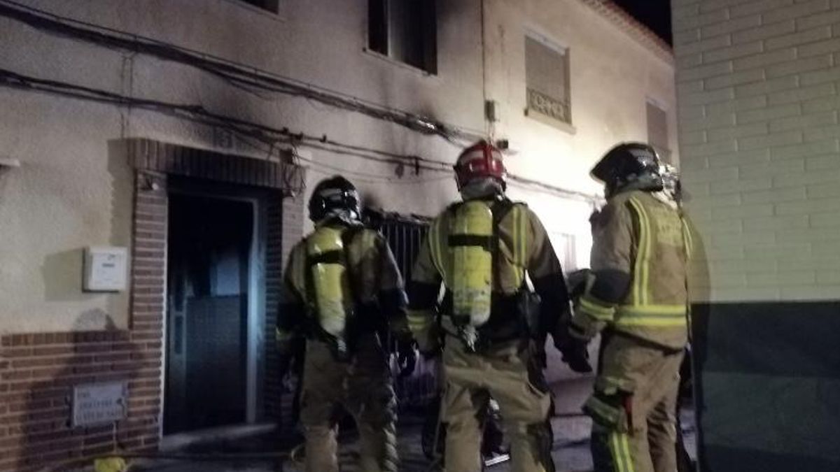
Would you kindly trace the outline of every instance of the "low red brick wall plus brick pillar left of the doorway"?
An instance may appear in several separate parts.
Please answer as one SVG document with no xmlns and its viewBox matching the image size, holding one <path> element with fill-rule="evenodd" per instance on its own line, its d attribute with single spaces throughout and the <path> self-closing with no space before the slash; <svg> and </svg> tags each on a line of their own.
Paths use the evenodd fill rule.
<svg viewBox="0 0 840 472">
<path fill-rule="evenodd" d="M 67 468 L 118 448 L 157 447 L 165 177 L 140 172 L 135 184 L 129 330 L 0 338 L 0 470 Z M 118 380 L 129 385 L 126 419 L 116 427 L 71 427 L 73 385 Z"/>
</svg>

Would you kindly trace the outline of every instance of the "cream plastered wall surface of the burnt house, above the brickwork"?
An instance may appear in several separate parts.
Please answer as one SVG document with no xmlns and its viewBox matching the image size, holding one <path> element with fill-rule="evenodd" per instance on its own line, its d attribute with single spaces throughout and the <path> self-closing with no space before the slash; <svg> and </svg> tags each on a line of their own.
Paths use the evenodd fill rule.
<svg viewBox="0 0 840 472">
<path fill-rule="evenodd" d="M 365 52 L 367 8 L 361 1 L 281 0 L 279 14 L 236 0 L 24 3 L 425 114 L 478 134 L 486 130 L 477 1 L 438 2 L 437 76 Z M 664 103 L 673 117 L 671 66 L 577 0 L 517 5 L 522 8 L 488 0 L 486 6 L 487 93 L 501 102 L 496 137 L 510 138 L 518 151 L 508 162 L 512 172 L 597 193 L 587 176 L 593 161 L 619 140 L 646 138 L 645 99 Z M 574 135 L 522 113 L 526 29 L 538 29 L 571 48 Z M 201 105 L 213 113 L 403 155 L 454 161 L 459 152 L 444 139 L 359 113 L 298 97 L 258 97 L 189 66 L 45 34 L 8 18 L 0 18 L 0 43 L 0 67 L 30 76 Z M 214 148 L 213 129 L 160 113 L 8 88 L 0 88 L 0 123 L 0 155 L 22 162 L 21 168 L 0 176 L 0 332 L 101 328 L 106 323 L 124 328 L 127 294 L 79 290 L 82 247 L 130 244 L 133 181 L 117 141 L 144 137 Z M 266 155 L 265 149 L 244 141 L 221 150 Z M 393 165 L 298 150 L 317 163 L 307 174 L 310 188 L 338 168 L 349 170 L 370 204 L 389 211 L 433 215 L 456 197 L 454 182 L 445 174 L 412 176 L 407 170 L 400 179 Z M 580 234 L 578 252 L 585 259 L 587 204 L 516 185 L 511 195 L 527 200 L 555 235 Z"/>
</svg>

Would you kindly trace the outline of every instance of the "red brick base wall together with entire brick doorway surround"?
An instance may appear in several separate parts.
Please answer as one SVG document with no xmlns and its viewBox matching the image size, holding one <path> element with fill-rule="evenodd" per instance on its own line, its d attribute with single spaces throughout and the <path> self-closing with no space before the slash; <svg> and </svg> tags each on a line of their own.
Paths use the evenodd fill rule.
<svg viewBox="0 0 840 472">
<path fill-rule="evenodd" d="M 67 469 L 117 450 L 160 442 L 166 286 L 167 176 L 197 176 L 273 189 L 267 208 L 266 331 L 274 338 L 281 267 L 301 238 L 300 199 L 282 188 L 295 166 L 129 140 L 134 181 L 129 329 L 0 337 L 0 471 Z M 264 411 L 280 396 L 274 344 L 266 343 Z M 124 380 L 126 418 L 115 426 L 71 427 L 73 385 Z"/>
</svg>

